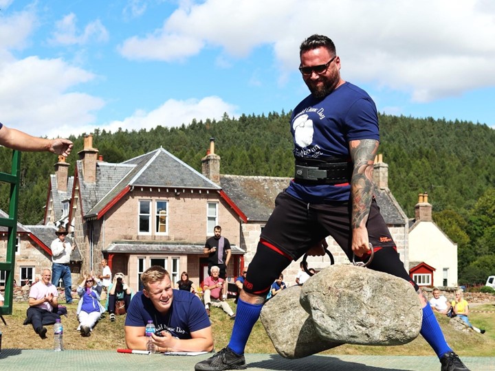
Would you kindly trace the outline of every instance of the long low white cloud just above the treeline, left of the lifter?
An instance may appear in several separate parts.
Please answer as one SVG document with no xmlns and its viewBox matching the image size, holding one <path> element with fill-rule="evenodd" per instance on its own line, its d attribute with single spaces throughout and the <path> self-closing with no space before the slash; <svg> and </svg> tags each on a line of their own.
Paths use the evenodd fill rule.
<svg viewBox="0 0 495 371">
<path fill-rule="evenodd" d="M 153 111 L 146 112 L 142 109 L 136 110 L 130 117 L 124 120 L 116 120 L 107 124 L 83 125 L 83 126 L 62 126 L 61 130 L 65 133 L 80 134 L 91 133 L 95 128 L 100 130 L 111 131 L 115 133 L 119 128 L 122 130 L 140 130 L 145 128 L 149 130 L 157 125 L 165 127 L 176 127 L 182 124 L 188 125 L 193 119 L 199 120 L 221 120 L 223 113 L 228 113 L 230 117 L 237 115 L 236 106 L 224 102 L 221 98 L 210 96 L 206 98 L 175 100 L 170 99 Z"/>
</svg>

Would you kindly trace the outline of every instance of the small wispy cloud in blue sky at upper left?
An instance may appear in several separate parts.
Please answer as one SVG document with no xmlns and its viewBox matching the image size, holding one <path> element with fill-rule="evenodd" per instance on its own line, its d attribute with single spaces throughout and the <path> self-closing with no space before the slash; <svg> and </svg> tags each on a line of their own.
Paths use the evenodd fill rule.
<svg viewBox="0 0 495 371">
<path fill-rule="evenodd" d="M 83 32 L 78 33 L 76 14 L 70 13 L 56 22 L 56 30 L 52 33 L 50 43 L 58 45 L 85 45 L 90 41 L 105 42 L 109 39 L 107 29 L 99 19 L 85 26 Z"/>
</svg>

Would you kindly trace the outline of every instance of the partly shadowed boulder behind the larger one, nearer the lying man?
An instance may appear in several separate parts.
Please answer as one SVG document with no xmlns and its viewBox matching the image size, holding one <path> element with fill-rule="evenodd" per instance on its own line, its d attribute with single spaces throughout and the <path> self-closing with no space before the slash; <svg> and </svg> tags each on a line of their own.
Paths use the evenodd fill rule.
<svg viewBox="0 0 495 371">
<path fill-rule="evenodd" d="M 309 314 L 299 304 L 301 286 L 291 286 L 263 306 L 261 323 L 279 355 L 307 357 L 340 343 L 321 339 Z"/>
</svg>

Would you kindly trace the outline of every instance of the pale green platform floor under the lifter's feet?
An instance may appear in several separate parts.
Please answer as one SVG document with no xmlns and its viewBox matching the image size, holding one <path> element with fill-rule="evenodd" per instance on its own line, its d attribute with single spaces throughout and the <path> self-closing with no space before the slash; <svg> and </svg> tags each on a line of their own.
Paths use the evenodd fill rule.
<svg viewBox="0 0 495 371">
<path fill-rule="evenodd" d="M 119 370 L 145 371 L 194 370 L 195 363 L 210 355 L 197 357 L 164 355 L 126 355 L 104 350 L 50 350 L 3 349 L 0 353 L 0 370 L 53 371 Z M 279 355 L 246 355 L 248 370 L 274 371 L 429 371 L 440 370 L 437 357 L 412 356 L 324 356 L 313 355 L 303 359 L 284 359 Z M 471 371 L 495 371 L 495 357 L 463 357 Z"/>
</svg>

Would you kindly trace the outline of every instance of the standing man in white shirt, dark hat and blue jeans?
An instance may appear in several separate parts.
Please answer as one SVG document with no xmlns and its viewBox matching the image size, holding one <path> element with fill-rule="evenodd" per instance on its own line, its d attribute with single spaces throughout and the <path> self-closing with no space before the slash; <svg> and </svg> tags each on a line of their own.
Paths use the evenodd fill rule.
<svg viewBox="0 0 495 371">
<path fill-rule="evenodd" d="M 72 245 L 65 237 L 69 232 L 64 227 L 58 228 L 55 232 L 55 238 L 50 246 L 52 249 L 52 284 L 58 285 L 58 281 L 62 278 L 65 287 L 65 302 L 72 304 L 72 276 L 70 271 L 70 255 L 72 253 Z"/>
</svg>

